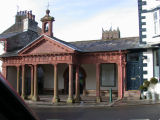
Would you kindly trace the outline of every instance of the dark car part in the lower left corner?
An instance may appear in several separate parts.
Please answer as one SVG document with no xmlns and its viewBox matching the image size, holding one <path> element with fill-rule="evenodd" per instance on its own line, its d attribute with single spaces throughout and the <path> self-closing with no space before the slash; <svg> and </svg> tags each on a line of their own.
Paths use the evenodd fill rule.
<svg viewBox="0 0 160 120">
<path fill-rule="evenodd" d="M 1 73 L 0 120 L 39 120 Z"/>
</svg>

